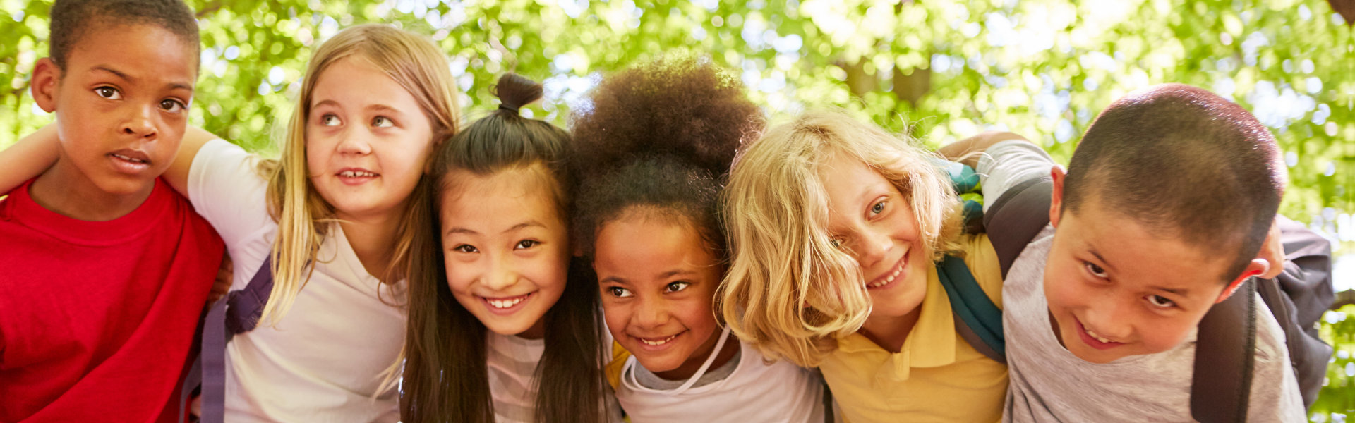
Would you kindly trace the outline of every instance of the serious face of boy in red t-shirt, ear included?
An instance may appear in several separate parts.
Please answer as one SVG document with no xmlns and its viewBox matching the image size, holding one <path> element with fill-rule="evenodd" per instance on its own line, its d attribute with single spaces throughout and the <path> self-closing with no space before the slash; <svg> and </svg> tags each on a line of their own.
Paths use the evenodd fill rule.
<svg viewBox="0 0 1355 423">
<path fill-rule="evenodd" d="M 149 194 L 179 150 L 188 122 L 196 46 L 150 24 L 99 24 L 66 54 L 43 58 L 34 98 L 56 111 L 61 160 L 88 194 Z"/>
</svg>

